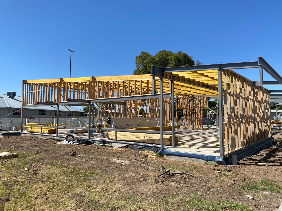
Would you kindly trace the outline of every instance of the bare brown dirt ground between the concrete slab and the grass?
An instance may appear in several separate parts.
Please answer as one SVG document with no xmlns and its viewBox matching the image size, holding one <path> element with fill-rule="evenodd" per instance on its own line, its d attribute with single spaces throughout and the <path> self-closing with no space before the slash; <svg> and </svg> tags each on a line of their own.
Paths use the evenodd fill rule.
<svg viewBox="0 0 282 211">
<path fill-rule="evenodd" d="M 252 210 L 278 210 L 282 199 L 281 192 L 240 188 L 246 183 L 261 179 L 273 180 L 281 187 L 282 131 L 275 131 L 273 138 L 276 142 L 272 147 L 240 160 L 236 167 L 168 160 L 149 152 L 146 154 L 146 152 L 129 149 L 114 149 L 97 145 L 63 145 L 57 144 L 58 141 L 44 140 L 34 136 L 0 138 L 0 152 L 8 150 L 9 152 L 25 151 L 40 154 L 42 159 L 39 162 L 30 161 L 26 166 L 33 172 L 33 177 L 45 176 L 41 173 L 41 164 L 61 162 L 65 167 L 70 165 L 94 169 L 103 175 L 108 175 L 112 178 L 112 184 L 121 185 L 125 193 L 133 196 L 162 199 L 169 196 L 183 197 L 197 194 L 215 201 L 226 199 L 241 203 Z M 149 162 L 156 169 L 135 159 Z M 193 174 L 203 181 L 190 176 L 177 175 L 160 183 L 156 176 L 165 171 L 161 170 L 161 166 L 164 166 L 166 170 L 171 169 L 172 172 Z M 16 176 L 3 178 L 2 173 L 0 172 L 0 179 L 17 179 Z M 8 181 L 2 182 L 6 184 Z M 246 195 L 253 196 L 255 199 L 249 199 Z M 168 201 L 166 204 L 170 207 L 168 210 L 182 206 L 177 201 Z M 87 209 L 86 205 L 79 205 L 79 210 Z"/>
</svg>

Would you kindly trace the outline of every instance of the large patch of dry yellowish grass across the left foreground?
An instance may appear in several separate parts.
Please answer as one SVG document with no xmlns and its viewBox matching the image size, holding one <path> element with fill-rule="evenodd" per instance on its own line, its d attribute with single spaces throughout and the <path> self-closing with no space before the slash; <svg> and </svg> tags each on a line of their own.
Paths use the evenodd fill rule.
<svg viewBox="0 0 282 211">
<path fill-rule="evenodd" d="M 30 170 L 25 171 L 26 167 Z M 27 152 L 19 152 L 18 158 L 2 163 L 0 172 L 1 179 L 53 175 L 1 181 L 0 210 L 250 210 L 239 203 L 214 201 L 195 194 L 162 199 L 130 195 L 113 176 L 90 168 L 66 167 Z M 176 203 L 177 206 L 171 206 Z"/>
</svg>

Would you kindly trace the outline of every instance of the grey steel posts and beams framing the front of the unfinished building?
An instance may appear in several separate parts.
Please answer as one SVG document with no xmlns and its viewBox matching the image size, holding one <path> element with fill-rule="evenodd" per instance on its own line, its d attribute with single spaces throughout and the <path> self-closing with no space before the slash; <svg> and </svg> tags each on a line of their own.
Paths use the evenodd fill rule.
<svg viewBox="0 0 282 211">
<path fill-rule="evenodd" d="M 138 96 L 122 96 L 122 97 L 112 97 L 112 98 L 98 98 L 92 100 L 82 100 L 82 99 L 72 99 L 68 98 L 67 102 L 36 102 L 36 105 L 24 105 L 24 107 L 34 107 L 34 106 L 52 106 L 56 105 L 57 110 L 59 105 L 76 105 L 76 106 L 88 106 L 90 109 L 91 104 L 93 103 L 108 103 L 108 104 L 120 104 L 124 105 L 124 102 L 120 101 L 127 101 L 127 100 L 135 100 L 135 99 L 153 99 L 153 98 L 160 98 L 160 108 L 163 107 L 163 98 L 164 97 L 171 97 L 171 102 L 173 104 L 173 84 L 174 82 L 181 83 L 181 84 L 188 84 L 195 87 L 200 87 L 203 89 L 208 89 L 211 91 L 218 92 L 219 95 L 213 95 L 212 97 L 219 97 L 219 126 L 221 128 L 220 132 L 220 156 L 221 158 L 224 157 L 224 138 L 223 138 L 223 99 L 222 99 L 222 80 L 218 80 L 217 84 L 206 84 L 204 82 L 190 80 L 185 77 L 173 75 L 175 72 L 189 72 L 189 71 L 209 71 L 209 70 L 217 70 L 218 71 L 218 78 L 222 78 L 222 71 L 226 69 L 247 69 L 247 68 L 259 68 L 259 81 L 256 81 L 254 84 L 256 86 L 263 86 L 268 84 L 282 84 L 282 77 L 263 59 L 262 57 L 258 57 L 258 61 L 255 62 L 239 62 L 239 63 L 225 63 L 225 64 L 210 64 L 210 65 L 198 65 L 198 66 L 185 66 L 185 67 L 171 67 L 171 68 L 160 68 L 157 66 L 152 66 L 151 69 L 151 76 L 152 76 L 152 90 L 151 95 L 138 95 Z M 263 81 L 263 70 L 269 73 L 276 81 L 275 82 L 264 82 Z M 157 94 L 155 87 L 156 87 L 156 79 L 155 77 L 160 78 L 160 93 Z M 163 93 L 163 79 L 168 79 L 171 82 L 171 93 Z M 24 81 L 23 81 L 24 82 Z M 279 90 L 276 90 L 275 93 L 278 93 Z M 198 96 L 205 96 L 205 95 L 198 95 Z M 271 94 L 272 98 L 270 102 L 282 102 L 282 95 L 281 94 Z M 173 112 L 173 111 L 172 111 Z M 22 111 L 23 113 L 23 111 Z M 173 115 L 171 115 L 173 117 Z M 89 123 L 90 123 L 91 116 L 89 115 Z M 164 115 L 162 109 L 160 109 L 160 120 L 164 122 Z M 21 125 L 23 126 L 23 116 L 21 116 Z M 57 116 L 57 128 L 58 127 L 58 116 Z M 90 130 L 90 127 L 89 127 Z M 22 127 L 21 127 L 22 131 Z M 161 134 L 161 149 L 164 148 L 162 140 L 163 134 L 166 133 L 163 131 L 163 127 L 161 126 L 160 134 Z M 58 135 L 58 130 L 57 130 Z M 174 140 L 174 136 L 173 136 Z M 173 142 L 174 146 L 174 142 Z"/>
</svg>

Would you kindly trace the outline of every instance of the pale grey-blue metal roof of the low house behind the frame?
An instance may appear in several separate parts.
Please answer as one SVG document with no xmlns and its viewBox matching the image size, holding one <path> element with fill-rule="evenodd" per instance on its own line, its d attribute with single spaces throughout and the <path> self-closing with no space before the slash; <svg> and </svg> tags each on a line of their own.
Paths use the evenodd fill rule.
<svg viewBox="0 0 282 211">
<path fill-rule="evenodd" d="M 1 108 L 21 108 L 21 97 L 15 96 L 14 98 L 8 97 L 6 94 L 0 94 L 0 109 Z M 81 109 L 68 106 L 70 111 L 83 112 Z M 57 106 L 38 106 L 27 107 L 26 109 L 38 109 L 38 110 L 52 110 L 57 111 Z M 69 111 L 64 106 L 59 106 L 59 111 Z"/>
</svg>

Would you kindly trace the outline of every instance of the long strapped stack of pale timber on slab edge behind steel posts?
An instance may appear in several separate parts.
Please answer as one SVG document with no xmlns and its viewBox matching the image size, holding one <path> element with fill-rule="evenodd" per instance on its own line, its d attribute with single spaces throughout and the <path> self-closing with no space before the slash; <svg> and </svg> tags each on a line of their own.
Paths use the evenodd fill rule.
<svg viewBox="0 0 282 211">
<path fill-rule="evenodd" d="M 174 136 L 175 144 L 178 143 L 178 138 Z M 107 138 L 115 140 L 115 131 L 107 132 Z M 142 142 L 160 144 L 160 134 L 150 133 L 130 133 L 130 132 L 117 132 L 117 139 L 121 141 Z M 164 135 L 164 145 L 172 145 L 172 136 Z"/>
</svg>

